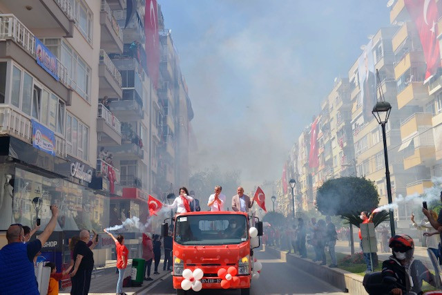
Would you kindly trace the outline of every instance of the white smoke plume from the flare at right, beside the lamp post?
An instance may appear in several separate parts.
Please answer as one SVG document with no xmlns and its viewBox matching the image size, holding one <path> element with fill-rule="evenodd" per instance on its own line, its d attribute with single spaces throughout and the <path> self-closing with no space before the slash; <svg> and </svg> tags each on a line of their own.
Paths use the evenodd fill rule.
<svg viewBox="0 0 442 295">
<path fill-rule="evenodd" d="M 433 187 L 430 187 L 428 189 L 425 189 L 422 195 L 419 195 L 419 193 L 414 193 L 410 196 L 402 196 L 399 195 L 398 198 L 396 198 L 392 204 L 385 204 L 381 207 L 378 207 L 374 209 L 374 213 L 381 212 L 383 210 L 389 211 L 398 209 L 398 204 L 406 202 L 406 203 L 414 203 L 414 204 L 422 204 L 422 202 L 430 203 L 434 200 L 439 200 L 441 197 L 441 185 L 442 185 L 442 178 L 432 178 Z"/>
</svg>

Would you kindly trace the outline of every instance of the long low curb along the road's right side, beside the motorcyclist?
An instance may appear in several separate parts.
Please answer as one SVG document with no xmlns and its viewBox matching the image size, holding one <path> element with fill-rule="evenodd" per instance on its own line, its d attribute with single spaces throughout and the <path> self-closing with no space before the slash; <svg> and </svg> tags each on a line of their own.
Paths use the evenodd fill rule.
<svg viewBox="0 0 442 295">
<path fill-rule="evenodd" d="M 302 269 L 304 272 L 314 274 L 314 276 L 343 290 L 343 292 L 349 294 L 367 294 L 365 287 L 362 284 L 364 279 L 363 276 L 339 268 L 329 268 L 327 266 L 317 265 L 310 259 L 296 257 L 285 253 L 285 251 L 273 249 L 272 247 L 266 247 L 265 251 L 269 251 L 271 254 L 278 256 L 281 260 L 287 263 L 296 265 L 296 267 Z"/>
</svg>

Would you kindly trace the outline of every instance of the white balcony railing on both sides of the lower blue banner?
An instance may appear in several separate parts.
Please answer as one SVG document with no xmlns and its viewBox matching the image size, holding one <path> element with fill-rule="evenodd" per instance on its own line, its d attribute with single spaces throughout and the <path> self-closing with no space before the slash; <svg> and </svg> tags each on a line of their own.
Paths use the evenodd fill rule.
<svg viewBox="0 0 442 295">
<path fill-rule="evenodd" d="M 15 111 L 10 106 L 0 105 L 0 134 L 17 137 L 32 145 L 32 124 L 30 117 Z M 55 133 L 55 153 L 66 158 L 66 140 Z"/>
</svg>

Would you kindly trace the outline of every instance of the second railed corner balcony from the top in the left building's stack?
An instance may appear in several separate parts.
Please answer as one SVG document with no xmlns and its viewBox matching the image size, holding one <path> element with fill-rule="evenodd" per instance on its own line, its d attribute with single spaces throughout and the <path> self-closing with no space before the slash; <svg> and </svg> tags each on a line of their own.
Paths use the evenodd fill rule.
<svg viewBox="0 0 442 295">
<path fill-rule="evenodd" d="M 103 49 L 99 50 L 99 96 L 123 97 L 122 75 Z"/>
</svg>

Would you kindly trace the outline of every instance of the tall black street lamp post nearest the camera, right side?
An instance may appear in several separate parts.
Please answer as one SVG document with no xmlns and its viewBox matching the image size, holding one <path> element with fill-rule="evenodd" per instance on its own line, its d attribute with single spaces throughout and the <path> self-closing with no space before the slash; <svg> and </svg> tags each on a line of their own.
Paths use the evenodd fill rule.
<svg viewBox="0 0 442 295">
<path fill-rule="evenodd" d="M 387 137 L 385 136 L 385 124 L 387 124 L 388 117 L 390 116 L 390 111 L 392 111 L 392 106 L 390 103 L 381 101 L 377 102 L 376 106 L 373 108 L 373 115 L 382 127 L 382 137 L 384 142 L 384 157 L 385 157 L 385 178 L 387 180 L 387 198 L 388 204 L 392 203 L 392 184 L 390 182 L 390 168 L 388 167 L 388 153 L 387 153 Z M 394 213 L 390 209 L 390 231 L 392 236 L 395 235 L 394 231 Z"/>
</svg>

